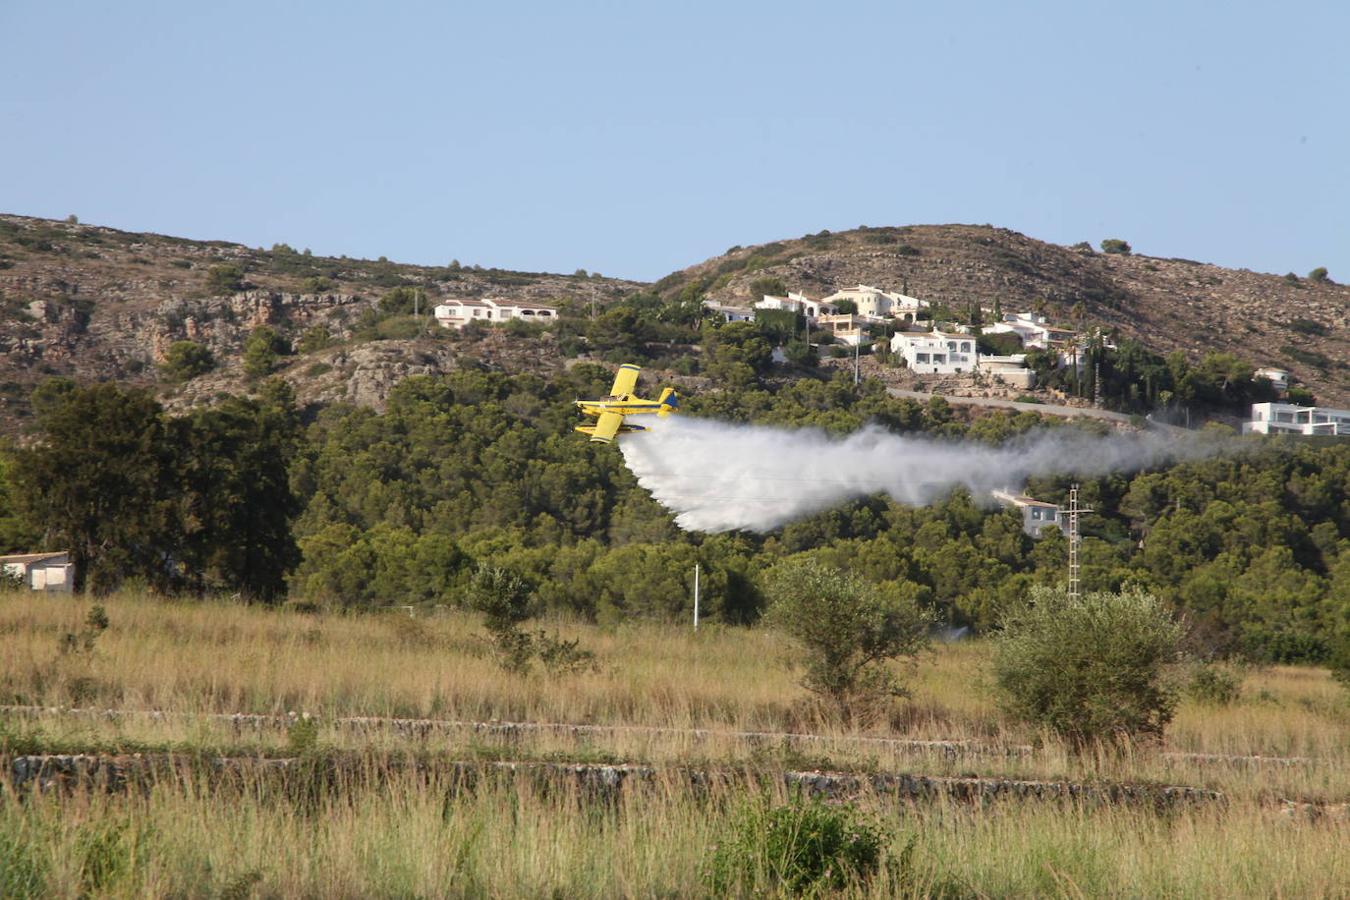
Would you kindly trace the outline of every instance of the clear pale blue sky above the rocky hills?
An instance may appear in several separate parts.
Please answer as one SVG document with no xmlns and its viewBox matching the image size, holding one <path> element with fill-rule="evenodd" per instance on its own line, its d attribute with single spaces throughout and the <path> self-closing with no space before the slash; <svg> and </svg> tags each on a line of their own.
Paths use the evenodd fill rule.
<svg viewBox="0 0 1350 900">
<path fill-rule="evenodd" d="M 1350 4 L 0 0 L 0 210 L 652 279 L 991 223 L 1350 281 Z"/>
</svg>

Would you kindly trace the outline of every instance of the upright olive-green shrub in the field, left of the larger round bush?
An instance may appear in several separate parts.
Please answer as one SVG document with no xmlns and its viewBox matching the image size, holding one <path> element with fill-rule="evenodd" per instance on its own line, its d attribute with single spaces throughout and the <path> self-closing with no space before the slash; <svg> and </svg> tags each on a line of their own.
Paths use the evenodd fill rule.
<svg viewBox="0 0 1350 900">
<path fill-rule="evenodd" d="M 815 560 L 770 571 L 768 621 L 802 648 L 802 685 L 845 719 L 868 718 L 905 690 L 890 663 L 927 646 L 932 617 L 911 596 Z"/>
</svg>

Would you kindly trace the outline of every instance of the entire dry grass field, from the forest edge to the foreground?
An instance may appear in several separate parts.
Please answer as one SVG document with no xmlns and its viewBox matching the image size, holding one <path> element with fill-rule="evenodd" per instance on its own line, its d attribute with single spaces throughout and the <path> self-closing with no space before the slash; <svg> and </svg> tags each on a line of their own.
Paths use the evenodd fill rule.
<svg viewBox="0 0 1350 900">
<path fill-rule="evenodd" d="M 910 772 L 1207 787 L 1227 801 L 1158 812 L 1103 804 L 855 803 L 892 857 L 860 896 L 1347 896 L 1350 826 L 1282 800 L 1350 800 L 1350 702 L 1326 672 L 1251 669 L 1227 706 L 1183 702 L 1165 748 L 1076 756 L 998 716 L 988 649 L 938 646 L 890 721 L 830 723 L 796 685 L 791 648 L 763 629 L 549 623 L 594 671 L 504 673 L 460 614 L 343 617 L 131 594 L 104 600 L 92 649 L 63 648 L 92 606 L 0 595 L 0 754 L 350 752 L 440 760 L 644 762 L 745 770 Z M 14 707 L 30 707 L 18 710 Z M 31 707 L 47 707 L 38 711 Z M 171 715 L 70 714 L 69 707 Z M 209 714 L 309 714 L 261 727 Z M 344 716 L 614 726 L 504 734 L 356 729 Z M 694 731 L 698 729 L 699 731 Z M 811 733 L 815 738 L 744 733 Z M 869 738 L 965 741 L 925 749 Z M 1218 760 L 1188 754 L 1297 757 Z M 771 787 L 768 800 L 784 800 Z M 714 849 L 747 803 L 675 777 L 593 803 L 575 791 L 435 769 L 327 783 L 297 801 L 246 779 L 144 792 L 0 793 L 0 895 L 702 896 Z M 909 849 L 906 851 L 906 847 Z M 747 891 L 751 888 L 748 887 Z"/>
</svg>

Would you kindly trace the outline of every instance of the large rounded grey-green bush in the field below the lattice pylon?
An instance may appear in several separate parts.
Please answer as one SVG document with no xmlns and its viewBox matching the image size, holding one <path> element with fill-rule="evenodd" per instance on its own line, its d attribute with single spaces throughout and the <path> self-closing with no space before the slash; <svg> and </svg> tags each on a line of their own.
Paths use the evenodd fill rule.
<svg viewBox="0 0 1350 900">
<path fill-rule="evenodd" d="M 994 680 L 1004 712 L 1076 748 L 1162 735 L 1176 708 L 1164 669 L 1183 630 L 1142 591 L 1034 588 L 995 637 Z"/>
</svg>

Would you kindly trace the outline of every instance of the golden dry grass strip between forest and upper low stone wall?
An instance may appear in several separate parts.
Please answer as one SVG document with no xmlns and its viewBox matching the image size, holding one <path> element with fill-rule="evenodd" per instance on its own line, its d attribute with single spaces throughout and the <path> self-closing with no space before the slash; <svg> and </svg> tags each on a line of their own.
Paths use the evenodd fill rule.
<svg viewBox="0 0 1350 900">
<path fill-rule="evenodd" d="M 819 727 L 790 665 L 791 648 L 764 629 L 634 622 L 612 629 L 560 622 L 594 650 L 594 672 L 508 676 L 473 617 L 451 613 L 309 615 L 231 603 L 107 598 L 111 627 L 92 653 L 63 653 L 90 602 L 0 595 L 0 702 L 186 712 L 308 711 L 320 716 L 597 722 L 672 727 Z M 907 673 L 913 700 L 876 733 L 979 738 L 1029 735 L 995 714 L 979 642 L 940 646 Z M 1174 749 L 1266 756 L 1343 753 L 1350 704 L 1326 672 L 1274 667 L 1246 677 L 1230 707 L 1184 703 Z"/>
</svg>

